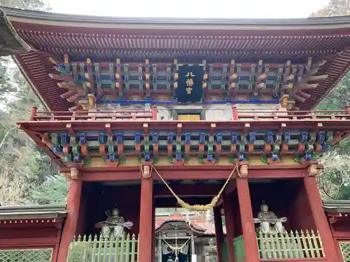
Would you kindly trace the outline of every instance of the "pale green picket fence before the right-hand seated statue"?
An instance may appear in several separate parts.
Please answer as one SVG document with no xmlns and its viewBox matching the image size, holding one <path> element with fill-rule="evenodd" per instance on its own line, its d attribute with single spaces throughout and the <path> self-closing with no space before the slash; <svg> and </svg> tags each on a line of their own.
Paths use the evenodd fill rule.
<svg viewBox="0 0 350 262">
<path fill-rule="evenodd" d="M 315 259 L 324 257 L 318 232 L 300 231 L 258 235 L 260 259 Z"/>
</svg>

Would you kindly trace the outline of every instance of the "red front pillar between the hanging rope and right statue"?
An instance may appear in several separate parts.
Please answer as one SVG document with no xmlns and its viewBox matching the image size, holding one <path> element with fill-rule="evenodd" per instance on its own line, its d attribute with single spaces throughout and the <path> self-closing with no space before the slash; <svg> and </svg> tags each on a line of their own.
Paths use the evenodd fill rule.
<svg viewBox="0 0 350 262">
<path fill-rule="evenodd" d="M 236 183 L 244 246 L 246 247 L 246 262 L 258 262 L 260 261 L 260 257 L 253 223 L 253 210 L 251 210 L 248 179 L 246 177 L 237 178 Z"/>
</svg>

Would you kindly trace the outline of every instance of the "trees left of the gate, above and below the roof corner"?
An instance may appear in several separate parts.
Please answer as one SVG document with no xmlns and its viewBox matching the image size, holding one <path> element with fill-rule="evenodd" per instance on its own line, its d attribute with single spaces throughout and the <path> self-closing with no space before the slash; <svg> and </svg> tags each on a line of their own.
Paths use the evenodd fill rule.
<svg viewBox="0 0 350 262">
<path fill-rule="evenodd" d="M 0 6 L 49 10 L 48 0 L 0 0 Z M 16 121 L 43 109 L 11 57 L 0 58 L 0 205 L 65 203 L 68 185 Z"/>
</svg>

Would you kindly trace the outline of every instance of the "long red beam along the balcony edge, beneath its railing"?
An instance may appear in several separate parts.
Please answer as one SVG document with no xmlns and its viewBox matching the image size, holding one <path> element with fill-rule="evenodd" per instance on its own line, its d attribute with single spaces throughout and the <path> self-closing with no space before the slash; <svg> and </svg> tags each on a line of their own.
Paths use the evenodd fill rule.
<svg viewBox="0 0 350 262">
<path fill-rule="evenodd" d="M 71 112 L 69 112 L 71 114 Z M 318 115 L 315 115 L 318 117 Z M 98 115 L 94 116 L 98 119 Z M 102 115 L 106 118 L 106 115 Z M 111 116 L 112 117 L 112 116 Z M 321 115 L 320 115 L 321 117 Z M 288 130 L 300 130 L 300 129 L 316 129 L 318 123 L 323 124 L 323 130 L 327 129 L 339 129 L 339 131 L 349 131 L 350 117 L 342 115 L 339 119 L 331 119 L 330 115 L 322 115 L 323 118 L 310 119 L 308 115 L 283 115 L 277 117 L 277 119 L 265 121 L 265 120 L 244 120 L 244 121 L 218 121 L 216 122 L 217 130 L 237 130 L 242 131 L 250 126 L 253 130 L 279 130 L 281 124 L 285 123 L 288 126 Z M 325 119 L 324 117 L 329 117 Z M 92 120 L 89 115 L 80 115 L 79 121 L 71 121 L 70 115 L 55 115 L 55 121 L 20 121 L 17 122 L 23 129 L 29 129 L 31 131 L 46 132 L 48 130 L 66 131 L 65 124 L 71 123 L 75 130 L 84 131 L 96 131 L 104 130 L 106 121 Z M 262 117 L 263 118 L 263 117 Z M 49 118 L 48 118 L 49 119 Z M 111 120 L 108 121 L 111 124 L 111 129 L 114 131 L 142 131 L 144 129 L 144 122 L 141 121 L 123 121 L 123 120 Z M 211 127 L 210 121 L 189 121 L 181 122 L 182 131 L 188 130 L 203 130 L 208 131 Z M 145 123 L 146 124 L 146 123 Z M 179 121 L 152 121 L 147 123 L 148 131 L 161 131 L 161 130 L 174 130 L 178 128 Z"/>
</svg>

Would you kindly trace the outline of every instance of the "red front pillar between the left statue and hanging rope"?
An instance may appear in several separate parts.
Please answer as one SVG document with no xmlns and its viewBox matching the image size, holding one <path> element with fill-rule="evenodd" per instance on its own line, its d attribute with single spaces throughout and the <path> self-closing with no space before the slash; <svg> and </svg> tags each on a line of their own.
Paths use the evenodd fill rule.
<svg viewBox="0 0 350 262">
<path fill-rule="evenodd" d="M 151 262 L 153 243 L 153 179 L 141 177 L 139 261 Z"/>
</svg>

